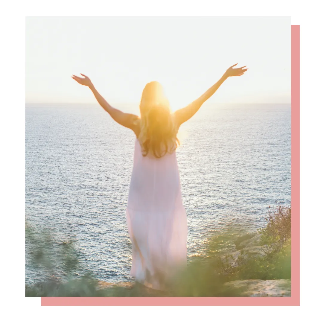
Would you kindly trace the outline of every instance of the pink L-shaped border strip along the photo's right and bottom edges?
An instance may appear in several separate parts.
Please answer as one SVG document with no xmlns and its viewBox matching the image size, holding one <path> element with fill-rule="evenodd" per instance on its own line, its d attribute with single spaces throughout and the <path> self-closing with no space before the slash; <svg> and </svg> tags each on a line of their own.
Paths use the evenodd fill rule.
<svg viewBox="0 0 318 318">
<path fill-rule="evenodd" d="M 300 305 L 300 26 L 291 26 L 291 297 L 41 297 L 42 306 L 299 306 Z"/>
</svg>

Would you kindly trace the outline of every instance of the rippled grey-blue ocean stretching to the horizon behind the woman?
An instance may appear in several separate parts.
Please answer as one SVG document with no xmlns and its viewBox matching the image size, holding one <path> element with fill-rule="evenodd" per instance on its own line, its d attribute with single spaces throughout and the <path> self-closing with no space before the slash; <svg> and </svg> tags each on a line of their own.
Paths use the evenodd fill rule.
<svg viewBox="0 0 318 318">
<path fill-rule="evenodd" d="M 287 104 L 207 103 L 181 126 L 177 160 L 189 258 L 204 253 L 213 233 L 233 225 L 255 231 L 269 205 L 291 200 L 290 111 Z M 132 280 L 125 209 L 134 133 L 98 104 L 26 104 L 25 114 L 27 223 L 52 231 L 56 244 L 74 241 L 76 275 Z M 27 241 L 27 284 L 47 276 L 31 262 L 34 252 Z M 58 264 L 54 271 L 66 274 Z"/>
</svg>

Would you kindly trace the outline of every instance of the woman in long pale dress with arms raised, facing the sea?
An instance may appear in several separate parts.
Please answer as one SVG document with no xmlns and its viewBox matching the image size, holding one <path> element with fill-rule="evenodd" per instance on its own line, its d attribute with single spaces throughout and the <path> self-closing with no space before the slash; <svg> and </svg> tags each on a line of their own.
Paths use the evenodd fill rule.
<svg viewBox="0 0 318 318">
<path fill-rule="evenodd" d="M 202 96 L 171 114 L 158 82 L 148 83 L 140 102 L 140 117 L 111 107 L 91 80 L 73 75 L 88 86 L 110 116 L 136 135 L 134 167 L 126 210 L 132 241 L 131 275 L 147 287 L 165 289 L 169 278 L 186 265 L 187 219 L 181 198 L 176 148 L 177 132 L 230 76 L 243 75 L 245 66 L 226 70 Z"/>
</svg>

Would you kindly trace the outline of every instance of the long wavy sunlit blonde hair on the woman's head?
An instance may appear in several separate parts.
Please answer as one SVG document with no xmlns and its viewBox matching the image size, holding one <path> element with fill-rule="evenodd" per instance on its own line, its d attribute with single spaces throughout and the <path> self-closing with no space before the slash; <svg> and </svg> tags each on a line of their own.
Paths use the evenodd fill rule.
<svg viewBox="0 0 318 318">
<path fill-rule="evenodd" d="M 180 142 L 177 127 L 172 118 L 169 101 L 163 93 L 160 83 L 148 83 L 142 91 L 140 109 L 139 143 L 142 155 L 148 153 L 161 158 L 176 150 Z"/>
</svg>

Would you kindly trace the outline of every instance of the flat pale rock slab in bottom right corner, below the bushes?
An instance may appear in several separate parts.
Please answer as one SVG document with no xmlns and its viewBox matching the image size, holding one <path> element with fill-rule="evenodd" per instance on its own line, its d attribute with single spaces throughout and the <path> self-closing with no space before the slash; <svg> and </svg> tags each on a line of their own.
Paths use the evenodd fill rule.
<svg viewBox="0 0 318 318">
<path fill-rule="evenodd" d="M 224 284 L 231 290 L 240 290 L 243 297 L 290 297 L 291 281 L 279 280 L 234 280 Z"/>
</svg>

